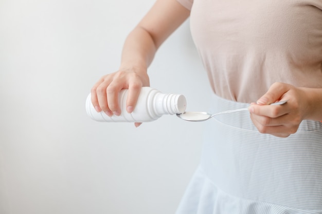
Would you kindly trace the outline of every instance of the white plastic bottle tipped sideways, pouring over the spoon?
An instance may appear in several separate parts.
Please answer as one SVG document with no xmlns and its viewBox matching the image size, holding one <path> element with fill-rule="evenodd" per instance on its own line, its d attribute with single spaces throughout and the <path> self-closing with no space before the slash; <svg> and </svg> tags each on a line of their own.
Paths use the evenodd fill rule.
<svg viewBox="0 0 322 214">
<path fill-rule="evenodd" d="M 86 99 L 86 112 L 95 121 L 100 122 L 150 122 L 164 114 L 183 113 L 186 110 L 186 98 L 180 94 L 165 94 L 150 87 L 142 87 L 132 113 L 126 110 L 128 89 L 120 91 L 118 96 L 121 115 L 108 116 L 97 112 L 91 102 L 91 94 Z"/>
</svg>

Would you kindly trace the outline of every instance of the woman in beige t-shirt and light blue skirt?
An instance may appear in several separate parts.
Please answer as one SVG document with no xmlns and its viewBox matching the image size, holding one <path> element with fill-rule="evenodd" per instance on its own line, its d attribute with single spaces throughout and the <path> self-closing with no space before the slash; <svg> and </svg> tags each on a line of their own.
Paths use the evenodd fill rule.
<svg viewBox="0 0 322 214">
<path fill-rule="evenodd" d="M 133 111 L 156 50 L 189 16 L 211 110 L 252 103 L 208 122 L 178 214 L 322 213 L 321 9 L 320 0 L 157 0 L 129 34 L 119 70 L 92 88 L 97 111 L 119 115 L 123 88 Z M 288 102 L 267 105 L 279 100 Z"/>
</svg>

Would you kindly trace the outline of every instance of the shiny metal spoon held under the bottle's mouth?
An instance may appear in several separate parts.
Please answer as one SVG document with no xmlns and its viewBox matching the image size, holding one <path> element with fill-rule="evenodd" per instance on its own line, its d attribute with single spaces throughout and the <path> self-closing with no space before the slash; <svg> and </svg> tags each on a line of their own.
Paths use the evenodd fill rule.
<svg viewBox="0 0 322 214">
<path fill-rule="evenodd" d="M 284 103 L 288 102 L 285 101 L 279 101 L 276 103 L 272 103 L 270 105 L 283 105 Z M 207 112 L 198 112 L 198 111 L 185 111 L 181 114 L 176 114 L 178 118 L 181 118 L 182 120 L 186 121 L 192 121 L 192 122 L 199 122 L 199 121 L 206 121 L 213 116 L 219 115 L 219 114 L 227 114 L 232 112 L 238 112 L 238 111 L 247 111 L 248 108 L 240 108 L 240 109 L 234 109 L 234 110 L 227 110 L 227 111 L 220 111 L 218 113 L 209 114 Z"/>
</svg>

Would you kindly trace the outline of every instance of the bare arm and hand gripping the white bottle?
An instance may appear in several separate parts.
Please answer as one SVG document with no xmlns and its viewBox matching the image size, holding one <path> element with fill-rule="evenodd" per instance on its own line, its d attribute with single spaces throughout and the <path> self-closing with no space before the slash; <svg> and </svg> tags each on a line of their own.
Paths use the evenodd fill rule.
<svg viewBox="0 0 322 214">
<path fill-rule="evenodd" d="M 91 90 L 97 111 L 120 115 L 118 93 L 129 89 L 127 111 L 134 110 L 140 88 L 149 86 L 147 68 L 158 47 L 189 16 L 190 11 L 176 0 L 157 0 L 150 11 L 128 35 L 119 70 L 101 77 Z"/>
</svg>

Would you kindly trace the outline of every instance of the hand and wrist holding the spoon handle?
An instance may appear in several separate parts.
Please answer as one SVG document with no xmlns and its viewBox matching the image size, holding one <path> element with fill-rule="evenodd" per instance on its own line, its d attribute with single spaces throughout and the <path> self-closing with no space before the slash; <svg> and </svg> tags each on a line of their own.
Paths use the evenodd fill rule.
<svg viewBox="0 0 322 214">
<path fill-rule="evenodd" d="M 278 100 L 289 101 L 282 106 L 267 105 Z M 274 83 L 249 111 L 261 133 L 285 138 L 297 131 L 302 120 L 322 121 L 322 88 Z"/>
</svg>

